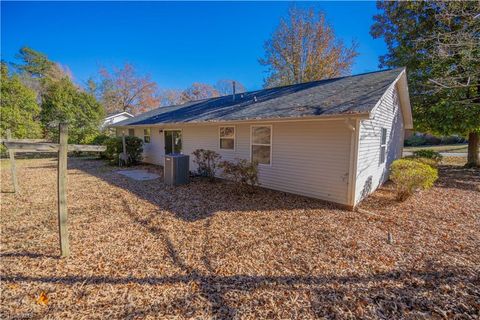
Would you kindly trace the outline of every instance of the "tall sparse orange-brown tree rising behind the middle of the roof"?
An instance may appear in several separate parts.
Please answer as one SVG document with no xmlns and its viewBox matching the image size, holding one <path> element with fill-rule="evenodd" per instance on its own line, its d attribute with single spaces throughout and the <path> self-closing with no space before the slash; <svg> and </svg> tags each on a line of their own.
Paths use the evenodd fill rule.
<svg viewBox="0 0 480 320">
<path fill-rule="evenodd" d="M 356 43 L 346 47 L 336 38 L 322 12 L 292 7 L 264 44 L 268 66 L 265 87 L 332 78 L 350 73 Z"/>
</svg>

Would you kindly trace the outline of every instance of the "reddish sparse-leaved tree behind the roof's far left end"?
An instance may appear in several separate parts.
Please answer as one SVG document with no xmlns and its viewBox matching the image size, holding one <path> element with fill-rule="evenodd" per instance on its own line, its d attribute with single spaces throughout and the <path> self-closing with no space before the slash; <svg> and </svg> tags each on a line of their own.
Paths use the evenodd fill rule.
<svg viewBox="0 0 480 320">
<path fill-rule="evenodd" d="M 112 71 L 102 68 L 99 73 L 98 95 L 107 112 L 138 114 L 160 105 L 157 84 L 148 75 L 138 75 L 133 65 Z"/>
</svg>

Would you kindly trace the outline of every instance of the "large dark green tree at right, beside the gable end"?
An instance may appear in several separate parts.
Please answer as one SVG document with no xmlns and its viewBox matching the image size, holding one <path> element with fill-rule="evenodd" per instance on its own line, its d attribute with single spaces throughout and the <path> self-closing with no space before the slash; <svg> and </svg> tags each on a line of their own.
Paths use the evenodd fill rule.
<svg viewBox="0 0 480 320">
<path fill-rule="evenodd" d="M 468 136 L 468 166 L 480 166 L 480 17 L 476 1 L 378 2 L 371 34 L 406 66 L 415 128 Z"/>
</svg>

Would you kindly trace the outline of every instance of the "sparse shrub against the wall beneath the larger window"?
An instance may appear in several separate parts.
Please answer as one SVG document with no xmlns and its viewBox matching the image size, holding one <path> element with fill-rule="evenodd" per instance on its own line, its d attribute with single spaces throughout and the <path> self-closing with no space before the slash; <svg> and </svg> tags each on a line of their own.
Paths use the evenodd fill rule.
<svg viewBox="0 0 480 320">
<path fill-rule="evenodd" d="M 239 159 L 236 162 L 222 161 L 222 175 L 238 183 L 240 190 L 250 189 L 258 185 L 258 162 Z"/>
</svg>

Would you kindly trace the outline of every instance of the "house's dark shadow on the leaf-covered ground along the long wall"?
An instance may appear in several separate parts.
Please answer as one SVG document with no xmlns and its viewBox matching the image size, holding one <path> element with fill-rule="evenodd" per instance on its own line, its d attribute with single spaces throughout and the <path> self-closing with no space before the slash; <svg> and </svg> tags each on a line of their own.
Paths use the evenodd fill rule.
<svg viewBox="0 0 480 320">
<path fill-rule="evenodd" d="M 170 211 L 175 217 L 184 221 L 205 219 L 218 211 L 339 209 L 334 204 L 325 201 L 260 187 L 252 193 L 238 192 L 234 183 L 224 180 L 217 180 L 217 182 L 212 183 L 195 178 L 187 185 L 167 186 L 163 183 L 162 167 L 154 165 L 134 167 L 135 169 L 145 169 L 157 173 L 161 177 L 149 181 L 136 181 L 126 178 L 116 173 L 117 169 L 98 160 L 79 161 L 72 159 L 69 160 L 68 168 L 81 170 L 113 186 L 128 190 L 140 199 L 154 204 L 159 210 Z M 71 174 L 73 173 L 69 172 L 69 175 Z"/>
</svg>

